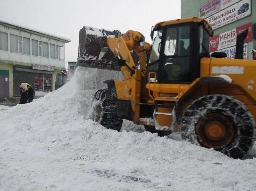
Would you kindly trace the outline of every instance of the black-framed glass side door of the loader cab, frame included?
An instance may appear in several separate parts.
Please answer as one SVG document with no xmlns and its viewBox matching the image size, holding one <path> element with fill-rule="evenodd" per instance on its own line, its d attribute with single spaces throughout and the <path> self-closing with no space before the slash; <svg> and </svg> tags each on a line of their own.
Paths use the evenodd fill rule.
<svg viewBox="0 0 256 191">
<path fill-rule="evenodd" d="M 190 84 L 195 79 L 191 28 L 190 23 L 164 28 L 158 83 Z"/>
</svg>

